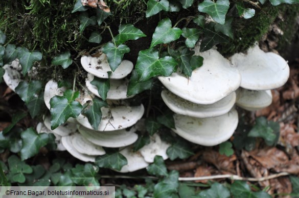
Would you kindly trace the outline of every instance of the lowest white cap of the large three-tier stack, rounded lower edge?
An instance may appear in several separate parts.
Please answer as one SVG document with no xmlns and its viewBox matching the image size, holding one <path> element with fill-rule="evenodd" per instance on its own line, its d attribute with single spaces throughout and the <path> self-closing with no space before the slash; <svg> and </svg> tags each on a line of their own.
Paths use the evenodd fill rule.
<svg viewBox="0 0 299 198">
<path fill-rule="evenodd" d="M 229 139 L 238 125 L 238 113 L 232 109 L 227 114 L 213 118 L 195 118 L 174 115 L 175 129 L 179 136 L 192 143 L 215 146 Z"/>
</svg>

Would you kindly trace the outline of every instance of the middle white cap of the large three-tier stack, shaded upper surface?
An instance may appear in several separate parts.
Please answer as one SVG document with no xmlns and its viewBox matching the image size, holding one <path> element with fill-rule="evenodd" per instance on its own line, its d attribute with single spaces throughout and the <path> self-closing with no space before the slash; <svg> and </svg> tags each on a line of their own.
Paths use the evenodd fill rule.
<svg viewBox="0 0 299 198">
<path fill-rule="evenodd" d="M 236 101 L 235 92 L 213 104 L 196 104 L 182 99 L 168 90 L 163 90 L 161 96 L 165 104 L 176 114 L 196 118 L 208 118 L 226 114 L 231 110 Z"/>
</svg>

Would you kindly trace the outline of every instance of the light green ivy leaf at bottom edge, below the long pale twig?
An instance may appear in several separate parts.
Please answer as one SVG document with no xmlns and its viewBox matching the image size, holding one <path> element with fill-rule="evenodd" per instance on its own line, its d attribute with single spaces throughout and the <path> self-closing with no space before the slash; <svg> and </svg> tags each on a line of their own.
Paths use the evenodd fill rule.
<svg viewBox="0 0 299 198">
<path fill-rule="evenodd" d="M 231 197 L 231 193 L 229 190 L 218 182 L 212 184 L 210 189 L 202 190 L 197 195 L 192 197 L 213 197 L 213 198 L 229 198 Z M 236 196 L 241 197 L 241 196 Z"/>
</svg>

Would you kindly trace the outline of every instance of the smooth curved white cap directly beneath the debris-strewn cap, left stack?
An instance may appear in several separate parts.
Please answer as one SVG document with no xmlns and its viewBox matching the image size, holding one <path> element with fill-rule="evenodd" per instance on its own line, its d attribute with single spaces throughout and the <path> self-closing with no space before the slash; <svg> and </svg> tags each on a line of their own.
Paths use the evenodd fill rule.
<svg viewBox="0 0 299 198">
<path fill-rule="evenodd" d="M 129 131 L 122 129 L 103 132 L 79 126 L 78 130 L 83 135 L 83 137 L 85 137 L 91 143 L 102 147 L 125 147 L 136 142 L 138 138 L 138 135 L 134 133 L 136 131 L 134 127 L 132 127 Z"/>
</svg>

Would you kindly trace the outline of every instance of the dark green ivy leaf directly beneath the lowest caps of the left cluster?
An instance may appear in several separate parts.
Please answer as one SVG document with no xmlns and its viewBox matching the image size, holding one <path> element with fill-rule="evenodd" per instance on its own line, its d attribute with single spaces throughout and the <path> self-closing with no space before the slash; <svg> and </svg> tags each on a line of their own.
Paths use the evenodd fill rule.
<svg viewBox="0 0 299 198">
<path fill-rule="evenodd" d="M 118 151 L 106 151 L 105 155 L 96 158 L 95 164 L 99 167 L 112 168 L 120 171 L 124 165 L 128 164 L 128 161 L 125 156 Z"/>
</svg>

